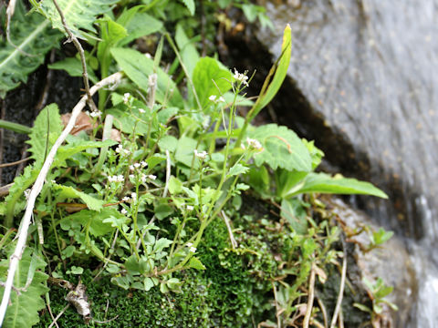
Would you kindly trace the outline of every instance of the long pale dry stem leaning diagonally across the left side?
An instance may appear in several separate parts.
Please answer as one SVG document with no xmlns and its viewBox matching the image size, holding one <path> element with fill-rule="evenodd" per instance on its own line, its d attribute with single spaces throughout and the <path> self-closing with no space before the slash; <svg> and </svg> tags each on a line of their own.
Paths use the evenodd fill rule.
<svg viewBox="0 0 438 328">
<path fill-rule="evenodd" d="M 94 87 L 91 87 L 91 89 L 89 90 L 90 94 L 93 95 L 94 93 L 96 93 L 96 91 L 98 91 L 100 87 L 105 87 L 110 84 L 118 83 L 121 77 L 122 77 L 121 73 L 118 72 L 111 75 L 110 77 L 104 78 L 99 83 L 97 83 Z M 21 256 L 23 255 L 23 251 L 25 251 L 27 231 L 30 225 L 32 212 L 35 207 L 36 197 L 43 189 L 45 179 L 47 177 L 48 171 L 50 170 L 50 166 L 52 165 L 53 160 L 57 155 L 57 149 L 62 145 L 64 140 L 68 137 L 70 131 L 75 127 L 76 119 L 78 118 L 78 115 L 80 114 L 82 109 L 85 107 L 87 103 L 87 99 L 88 99 L 87 95 L 81 97 L 78 104 L 75 106 L 75 108 L 73 108 L 71 112 L 71 117 L 68 120 L 67 127 L 64 128 L 59 138 L 57 138 L 57 141 L 53 145 L 52 149 L 50 149 L 50 152 L 47 155 L 47 159 L 45 160 L 43 167 L 39 171 L 38 177 L 36 178 L 35 184 L 32 187 L 32 190 L 30 190 L 29 198 L 27 200 L 25 215 L 23 216 L 23 219 L 21 220 L 20 223 L 18 241 L 16 242 L 16 250 L 14 251 L 14 254 L 12 254 L 9 261 L 9 269 L 7 271 L 7 279 L 5 283 L 5 292 L 3 294 L 2 303 L 0 304 L 0 326 L 3 324 L 3 321 L 5 319 L 6 308 L 9 302 L 9 296 L 11 294 L 12 284 L 14 282 L 14 276 L 16 275 L 16 268 L 18 266 L 18 261 L 20 261 Z"/>
</svg>

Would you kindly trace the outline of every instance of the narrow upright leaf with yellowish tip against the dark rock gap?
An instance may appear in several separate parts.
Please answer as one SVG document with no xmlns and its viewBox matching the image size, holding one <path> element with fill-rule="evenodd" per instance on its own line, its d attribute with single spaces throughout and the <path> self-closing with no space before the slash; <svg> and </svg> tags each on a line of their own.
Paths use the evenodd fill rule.
<svg viewBox="0 0 438 328">
<path fill-rule="evenodd" d="M 285 80 L 285 77 L 287 75 L 287 68 L 289 67 L 289 63 L 290 63 L 290 55 L 292 52 L 291 40 L 292 40 L 292 34 L 290 31 L 290 26 L 287 25 L 285 28 L 285 32 L 283 34 L 281 56 L 278 62 L 276 62 L 274 66 L 271 68 L 271 72 L 275 70 L 274 77 L 272 78 L 269 87 L 266 88 L 266 91 L 263 93 L 263 95 L 260 95 L 260 97 L 255 102 L 255 107 L 254 109 L 252 109 L 253 118 L 260 112 L 260 110 L 262 110 L 262 108 L 266 107 L 266 105 L 272 100 L 274 96 L 276 96 L 278 89 L 281 87 L 283 81 Z M 269 74 L 271 74 L 271 72 L 269 72 Z M 267 83 L 268 79 L 269 77 L 266 77 L 265 83 Z"/>
</svg>

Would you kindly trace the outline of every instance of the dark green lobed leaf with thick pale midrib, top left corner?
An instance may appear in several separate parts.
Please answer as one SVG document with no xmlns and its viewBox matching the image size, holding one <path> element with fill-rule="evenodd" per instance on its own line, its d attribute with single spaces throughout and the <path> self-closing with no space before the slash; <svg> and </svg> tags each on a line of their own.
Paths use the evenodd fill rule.
<svg viewBox="0 0 438 328">
<path fill-rule="evenodd" d="M 0 98 L 20 82 L 26 83 L 28 74 L 44 62 L 51 48 L 59 46 L 62 37 L 41 15 L 35 12 L 26 14 L 26 8 L 20 0 L 16 2 L 10 29 L 11 41 L 15 46 L 6 41 L 5 34 L 0 36 Z"/>
</svg>

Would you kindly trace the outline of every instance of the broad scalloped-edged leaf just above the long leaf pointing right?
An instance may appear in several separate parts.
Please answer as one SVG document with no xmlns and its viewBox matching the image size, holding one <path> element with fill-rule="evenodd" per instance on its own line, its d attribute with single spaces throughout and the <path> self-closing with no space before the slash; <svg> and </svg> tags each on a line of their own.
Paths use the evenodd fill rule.
<svg viewBox="0 0 438 328">
<path fill-rule="evenodd" d="M 249 137 L 257 139 L 263 146 L 263 150 L 254 154 L 256 166 L 266 163 L 272 169 L 306 172 L 312 169 L 308 149 L 294 131 L 276 124 L 266 124 L 249 132 Z"/>
</svg>

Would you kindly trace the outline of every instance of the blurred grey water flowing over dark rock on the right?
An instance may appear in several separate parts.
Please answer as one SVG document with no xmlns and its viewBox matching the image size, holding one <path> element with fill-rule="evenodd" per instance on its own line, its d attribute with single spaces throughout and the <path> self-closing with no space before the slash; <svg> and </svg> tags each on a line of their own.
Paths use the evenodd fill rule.
<svg viewBox="0 0 438 328">
<path fill-rule="evenodd" d="M 285 116 L 337 169 L 388 192 L 391 201 L 352 200 L 405 236 L 418 292 L 402 326 L 438 327 L 438 0 L 266 7 L 275 30 L 257 38 L 274 56 L 284 27 L 292 29 L 289 87 L 300 100 L 289 99 Z M 322 130 L 338 138 L 328 140 Z"/>
</svg>

